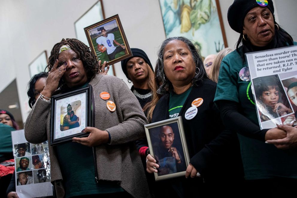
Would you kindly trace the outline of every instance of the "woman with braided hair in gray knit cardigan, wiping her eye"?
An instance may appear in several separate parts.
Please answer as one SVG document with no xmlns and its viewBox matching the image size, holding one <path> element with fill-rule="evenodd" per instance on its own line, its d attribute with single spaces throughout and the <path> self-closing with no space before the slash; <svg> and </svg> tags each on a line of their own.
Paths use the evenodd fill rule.
<svg viewBox="0 0 297 198">
<path fill-rule="evenodd" d="M 55 44 L 48 67 L 46 86 L 25 123 L 29 142 L 50 138 L 51 96 L 90 85 L 94 98 L 94 127 L 82 130 L 90 132 L 89 136 L 73 138 L 74 143 L 55 148 L 49 146 L 51 182 L 57 197 L 149 197 L 133 142 L 144 137 L 147 120 L 134 94 L 121 79 L 99 74 L 101 61 L 77 39 L 62 39 Z M 106 108 L 101 92 L 110 94 L 115 111 Z"/>
</svg>

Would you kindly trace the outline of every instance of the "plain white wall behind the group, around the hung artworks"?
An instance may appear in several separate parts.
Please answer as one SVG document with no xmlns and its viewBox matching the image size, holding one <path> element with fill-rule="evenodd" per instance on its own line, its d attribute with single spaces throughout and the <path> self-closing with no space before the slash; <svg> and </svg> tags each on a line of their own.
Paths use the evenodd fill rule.
<svg viewBox="0 0 297 198">
<path fill-rule="evenodd" d="M 28 64 L 43 50 L 51 48 L 62 38 L 75 38 L 74 22 L 97 0 L 13 0 L 0 1 L 0 92 L 16 78 L 22 118 L 27 114 L 24 102 L 27 100 L 27 83 L 30 80 Z M 143 49 L 152 64 L 157 60 L 157 49 L 165 39 L 165 32 L 158 0 L 102 0 L 105 16 L 119 14 L 130 47 Z M 281 0 L 274 0 L 280 5 Z M 228 46 L 234 48 L 239 34 L 233 31 L 227 21 L 228 7 L 233 0 L 219 0 Z M 296 1 L 286 1 L 281 13 Z M 277 8 L 276 8 L 277 10 Z M 277 17 L 277 16 L 276 16 Z M 296 18 L 294 10 L 280 17 L 280 24 L 289 27 Z M 284 22 L 287 19 L 288 22 Z M 296 27 L 296 26 L 295 26 Z M 295 33 L 296 28 L 293 29 Z M 295 33 L 296 35 L 296 33 Z M 115 64 L 116 75 L 126 83 L 120 63 Z M 127 83 L 128 84 L 128 83 Z M 131 84 L 128 84 L 131 86 Z"/>
</svg>

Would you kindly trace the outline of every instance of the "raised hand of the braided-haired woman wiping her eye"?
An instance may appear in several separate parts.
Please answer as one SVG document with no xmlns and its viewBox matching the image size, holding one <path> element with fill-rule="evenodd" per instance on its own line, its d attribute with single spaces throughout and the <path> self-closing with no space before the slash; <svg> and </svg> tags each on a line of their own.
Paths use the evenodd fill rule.
<svg viewBox="0 0 297 198">
<path fill-rule="evenodd" d="M 51 71 L 49 72 L 49 76 L 46 79 L 46 86 L 44 87 L 42 94 L 48 98 L 51 97 L 51 94 L 54 93 L 55 90 L 57 90 L 59 81 L 66 72 L 67 69 L 67 62 L 65 62 L 63 65 L 58 67 L 59 61 L 56 59 L 54 66 L 51 68 Z"/>
</svg>

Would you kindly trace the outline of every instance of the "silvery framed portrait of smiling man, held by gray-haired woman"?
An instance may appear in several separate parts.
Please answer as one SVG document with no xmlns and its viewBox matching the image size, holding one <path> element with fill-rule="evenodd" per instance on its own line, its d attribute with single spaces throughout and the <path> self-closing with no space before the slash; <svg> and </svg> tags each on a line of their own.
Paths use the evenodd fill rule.
<svg viewBox="0 0 297 198">
<path fill-rule="evenodd" d="M 190 157 L 181 116 L 144 127 L 150 154 L 159 165 L 155 180 L 185 176 Z"/>
</svg>

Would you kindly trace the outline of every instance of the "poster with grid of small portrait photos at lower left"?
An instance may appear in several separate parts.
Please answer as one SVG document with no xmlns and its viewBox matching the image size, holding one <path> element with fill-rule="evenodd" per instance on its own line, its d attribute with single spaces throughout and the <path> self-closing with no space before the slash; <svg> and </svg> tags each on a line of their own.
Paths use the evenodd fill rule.
<svg viewBox="0 0 297 198">
<path fill-rule="evenodd" d="M 22 197 L 53 196 L 48 141 L 29 143 L 24 130 L 11 132 L 16 193 Z"/>
</svg>

